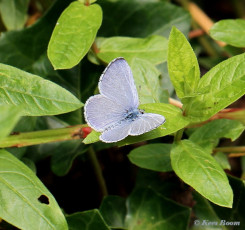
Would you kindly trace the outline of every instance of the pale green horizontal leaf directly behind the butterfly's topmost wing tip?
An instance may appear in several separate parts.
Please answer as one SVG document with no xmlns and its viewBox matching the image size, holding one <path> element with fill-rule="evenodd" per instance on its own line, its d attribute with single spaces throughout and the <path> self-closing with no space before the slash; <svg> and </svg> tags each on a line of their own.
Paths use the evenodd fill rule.
<svg viewBox="0 0 245 230">
<path fill-rule="evenodd" d="M 167 60 L 167 39 L 157 35 L 147 38 L 100 38 L 96 44 L 98 58 L 106 63 L 117 57 L 124 57 L 129 63 L 134 58 L 140 58 L 154 65 Z"/>
</svg>

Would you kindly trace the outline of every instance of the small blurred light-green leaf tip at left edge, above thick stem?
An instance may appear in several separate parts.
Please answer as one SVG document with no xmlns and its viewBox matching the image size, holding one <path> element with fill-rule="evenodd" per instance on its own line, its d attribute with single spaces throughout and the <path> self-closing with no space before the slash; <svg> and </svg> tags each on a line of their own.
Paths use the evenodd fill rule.
<svg viewBox="0 0 245 230">
<path fill-rule="evenodd" d="M 21 112 L 19 107 L 0 105 L 0 140 L 9 135 L 20 119 Z"/>
</svg>

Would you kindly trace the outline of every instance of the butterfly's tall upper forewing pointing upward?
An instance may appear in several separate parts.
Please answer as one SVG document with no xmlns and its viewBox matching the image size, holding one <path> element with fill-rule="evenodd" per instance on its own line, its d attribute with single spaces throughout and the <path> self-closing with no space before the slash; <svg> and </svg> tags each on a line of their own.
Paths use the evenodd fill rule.
<svg viewBox="0 0 245 230">
<path fill-rule="evenodd" d="M 117 58 L 107 66 L 100 78 L 99 90 L 126 110 L 139 106 L 132 71 L 123 58 Z"/>
</svg>

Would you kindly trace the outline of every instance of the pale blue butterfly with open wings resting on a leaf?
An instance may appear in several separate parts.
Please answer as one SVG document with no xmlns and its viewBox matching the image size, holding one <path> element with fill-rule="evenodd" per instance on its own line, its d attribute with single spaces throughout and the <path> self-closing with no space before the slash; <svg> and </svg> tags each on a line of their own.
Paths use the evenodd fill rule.
<svg viewBox="0 0 245 230">
<path fill-rule="evenodd" d="M 141 135 L 165 122 L 162 115 L 138 109 L 133 74 L 124 58 L 116 58 L 106 67 L 99 80 L 99 91 L 100 94 L 85 103 L 84 115 L 91 128 L 102 132 L 100 140 L 103 142 Z"/>
</svg>

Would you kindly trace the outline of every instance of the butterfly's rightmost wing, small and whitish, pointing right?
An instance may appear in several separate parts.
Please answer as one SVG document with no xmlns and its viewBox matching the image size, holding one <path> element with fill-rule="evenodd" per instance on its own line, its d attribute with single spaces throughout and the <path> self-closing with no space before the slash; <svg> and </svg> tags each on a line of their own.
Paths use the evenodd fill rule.
<svg viewBox="0 0 245 230">
<path fill-rule="evenodd" d="M 140 114 L 130 125 L 129 135 L 137 136 L 149 132 L 165 122 L 165 117 L 155 113 Z"/>
</svg>

